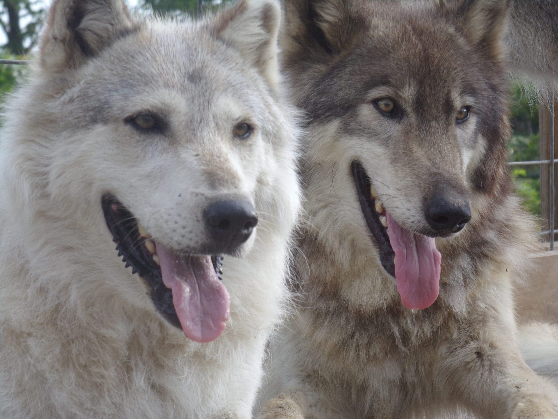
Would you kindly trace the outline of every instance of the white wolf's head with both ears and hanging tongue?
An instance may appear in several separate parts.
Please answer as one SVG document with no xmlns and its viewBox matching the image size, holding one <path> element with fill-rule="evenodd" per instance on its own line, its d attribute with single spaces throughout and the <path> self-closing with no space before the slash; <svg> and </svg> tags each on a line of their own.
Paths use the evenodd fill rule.
<svg viewBox="0 0 558 419">
<path fill-rule="evenodd" d="M 7 115 L 13 206 L 55 220 L 56 242 L 90 246 L 109 288 L 140 303 L 147 288 L 193 340 L 215 339 L 229 316 L 223 254 L 249 251 L 258 217 L 286 239 L 296 215 L 280 14 L 243 0 L 199 22 L 144 22 L 121 0 L 57 0 Z"/>
</svg>

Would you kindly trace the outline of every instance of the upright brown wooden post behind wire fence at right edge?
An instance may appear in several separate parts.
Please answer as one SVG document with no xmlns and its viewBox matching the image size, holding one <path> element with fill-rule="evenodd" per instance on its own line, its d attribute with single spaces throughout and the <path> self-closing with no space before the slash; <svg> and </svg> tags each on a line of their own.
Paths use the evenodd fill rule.
<svg viewBox="0 0 558 419">
<path fill-rule="evenodd" d="M 549 119 L 550 110 L 541 104 L 539 113 L 539 132 L 540 132 L 540 158 L 541 160 L 550 159 L 549 150 Z M 554 103 L 554 158 L 558 158 L 558 98 Z M 555 165 L 554 185 L 558 187 L 558 165 Z M 541 228 L 542 231 L 549 229 L 549 166 L 541 165 Z M 558 230 L 558 193 L 554 197 L 554 228 Z M 548 240 L 548 236 L 545 237 Z M 555 233 L 555 240 L 558 240 L 558 231 Z"/>
</svg>

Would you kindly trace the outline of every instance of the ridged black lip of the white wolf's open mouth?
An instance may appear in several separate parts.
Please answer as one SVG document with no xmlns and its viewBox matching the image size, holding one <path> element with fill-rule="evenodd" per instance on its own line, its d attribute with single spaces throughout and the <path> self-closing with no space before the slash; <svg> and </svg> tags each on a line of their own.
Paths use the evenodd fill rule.
<svg viewBox="0 0 558 419">
<path fill-rule="evenodd" d="M 143 246 L 144 239 L 138 231 L 138 223 L 133 214 L 112 194 L 104 194 L 101 206 L 107 227 L 113 235 L 118 256 L 132 267 L 132 273 L 137 273 L 151 288 L 151 299 L 161 315 L 171 325 L 182 329 L 172 303 L 172 290 L 163 283 L 161 268 L 153 261 L 150 253 Z M 223 255 L 211 256 L 215 272 L 222 279 Z"/>
</svg>

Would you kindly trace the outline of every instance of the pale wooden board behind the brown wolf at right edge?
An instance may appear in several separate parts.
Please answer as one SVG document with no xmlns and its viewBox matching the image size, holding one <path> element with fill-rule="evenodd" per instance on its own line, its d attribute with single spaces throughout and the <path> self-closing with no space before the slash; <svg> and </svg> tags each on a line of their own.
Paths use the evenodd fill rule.
<svg viewBox="0 0 558 419">
<path fill-rule="evenodd" d="M 533 255 L 532 262 L 532 274 L 517 288 L 519 318 L 558 324 L 558 250 Z"/>
</svg>

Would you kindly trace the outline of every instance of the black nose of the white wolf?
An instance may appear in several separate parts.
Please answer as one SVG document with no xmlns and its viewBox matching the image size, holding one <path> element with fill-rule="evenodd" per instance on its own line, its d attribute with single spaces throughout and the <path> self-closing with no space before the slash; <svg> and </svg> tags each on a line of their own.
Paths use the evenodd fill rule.
<svg viewBox="0 0 558 419">
<path fill-rule="evenodd" d="M 256 210 L 249 202 L 215 202 L 205 211 L 205 227 L 211 239 L 219 245 L 238 246 L 244 243 L 257 223 Z"/>
</svg>

